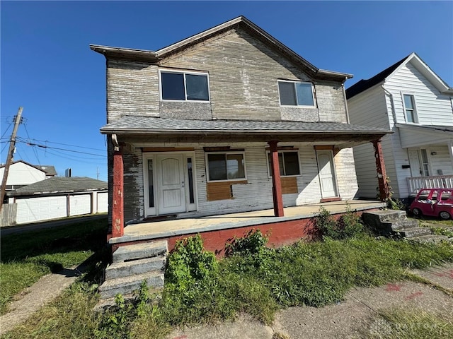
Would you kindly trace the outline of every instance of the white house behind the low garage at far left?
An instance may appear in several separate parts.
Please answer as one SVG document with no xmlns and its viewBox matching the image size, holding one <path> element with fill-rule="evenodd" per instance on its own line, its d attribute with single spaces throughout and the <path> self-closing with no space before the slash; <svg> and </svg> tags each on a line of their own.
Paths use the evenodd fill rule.
<svg viewBox="0 0 453 339">
<path fill-rule="evenodd" d="M 0 178 L 3 178 L 5 166 L 0 167 Z M 23 160 L 13 162 L 9 167 L 6 190 L 18 189 L 41 180 L 54 177 L 55 167 L 49 165 L 31 165 Z"/>
</svg>

